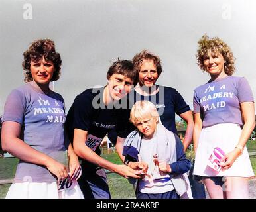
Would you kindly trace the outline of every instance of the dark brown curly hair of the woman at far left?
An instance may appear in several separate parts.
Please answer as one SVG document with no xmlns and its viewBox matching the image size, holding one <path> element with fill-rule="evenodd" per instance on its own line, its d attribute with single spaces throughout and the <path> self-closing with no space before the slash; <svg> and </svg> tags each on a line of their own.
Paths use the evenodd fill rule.
<svg viewBox="0 0 256 212">
<path fill-rule="evenodd" d="M 55 51 L 54 41 L 50 39 L 40 39 L 32 42 L 29 49 L 23 53 L 24 61 L 23 61 L 23 70 L 25 70 L 25 79 L 24 81 L 27 83 L 32 81 L 31 75 L 31 61 L 38 62 L 43 57 L 45 60 L 52 61 L 54 64 L 54 74 L 50 81 L 57 81 L 60 78 L 60 69 L 62 60 L 60 58 L 60 54 Z"/>
</svg>

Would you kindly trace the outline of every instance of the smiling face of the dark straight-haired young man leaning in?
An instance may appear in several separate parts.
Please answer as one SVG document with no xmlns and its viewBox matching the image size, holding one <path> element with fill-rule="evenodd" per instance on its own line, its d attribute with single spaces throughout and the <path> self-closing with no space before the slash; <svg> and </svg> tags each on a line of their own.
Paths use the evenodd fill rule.
<svg viewBox="0 0 256 212">
<path fill-rule="evenodd" d="M 131 78 L 127 78 L 123 74 L 113 74 L 109 78 L 109 84 L 107 85 L 109 90 L 109 95 L 113 100 L 119 100 L 129 91 L 131 91 L 131 87 L 133 85 L 133 81 Z"/>
</svg>

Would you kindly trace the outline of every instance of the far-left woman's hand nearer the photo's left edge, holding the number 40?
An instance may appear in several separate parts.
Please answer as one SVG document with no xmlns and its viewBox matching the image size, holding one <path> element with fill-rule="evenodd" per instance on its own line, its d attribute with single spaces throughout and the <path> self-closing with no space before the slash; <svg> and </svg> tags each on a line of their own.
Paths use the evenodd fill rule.
<svg viewBox="0 0 256 212">
<path fill-rule="evenodd" d="M 58 178 L 58 181 L 64 180 L 68 177 L 68 172 L 64 164 L 61 164 L 60 162 L 52 158 L 47 160 L 46 167 L 50 172 L 52 172 L 52 174 L 54 174 Z"/>
</svg>

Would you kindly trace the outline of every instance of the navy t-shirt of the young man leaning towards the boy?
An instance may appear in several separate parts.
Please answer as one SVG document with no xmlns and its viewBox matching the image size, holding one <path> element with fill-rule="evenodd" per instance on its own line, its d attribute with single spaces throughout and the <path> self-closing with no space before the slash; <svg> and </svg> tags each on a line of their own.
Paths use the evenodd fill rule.
<svg viewBox="0 0 256 212">
<path fill-rule="evenodd" d="M 99 145 L 107 132 L 115 128 L 113 105 L 103 103 L 104 87 L 87 89 L 80 93 L 68 111 L 66 117 L 66 132 L 70 141 L 74 137 L 74 129 L 88 131 L 84 141 L 86 146 L 100 155 Z M 93 164 L 83 161 L 83 164 Z"/>
</svg>

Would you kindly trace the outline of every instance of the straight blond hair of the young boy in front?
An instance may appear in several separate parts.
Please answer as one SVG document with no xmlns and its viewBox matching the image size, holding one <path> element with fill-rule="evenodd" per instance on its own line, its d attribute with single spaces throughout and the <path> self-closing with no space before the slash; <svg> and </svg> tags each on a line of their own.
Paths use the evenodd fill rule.
<svg viewBox="0 0 256 212">
<path fill-rule="evenodd" d="M 130 121 L 133 125 L 143 120 L 154 118 L 156 122 L 159 121 L 159 113 L 153 103 L 150 101 L 137 101 L 131 108 Z"/>
</svg>

